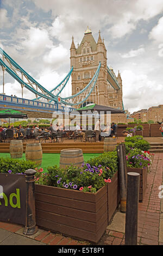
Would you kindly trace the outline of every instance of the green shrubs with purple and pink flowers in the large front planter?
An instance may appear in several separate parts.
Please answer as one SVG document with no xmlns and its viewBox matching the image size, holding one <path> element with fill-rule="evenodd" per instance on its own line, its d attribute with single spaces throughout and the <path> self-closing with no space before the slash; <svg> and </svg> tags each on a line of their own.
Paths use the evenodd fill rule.
<svg viewBox="0 0 163 256">
<path fill-rule="evenodd" d="M 66 169 L 52 166 L 48 167 L 47 174 L 42 174 L 40 169 L 35 176 L 39 184 L 95 193 L 106 182 L 111 182 L 116 172 L 117 153 L 112 151 L 93 157 L 87 163 L 84 162 L 81 168 L 73 164 Z"/>
</svg>

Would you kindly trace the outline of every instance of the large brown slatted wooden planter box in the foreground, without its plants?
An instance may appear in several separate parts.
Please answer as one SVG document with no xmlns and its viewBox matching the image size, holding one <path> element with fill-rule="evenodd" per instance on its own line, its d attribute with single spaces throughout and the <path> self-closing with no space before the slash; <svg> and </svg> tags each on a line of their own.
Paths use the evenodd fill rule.
<svg viewBox="0 0 163 256">
<path fill-rule="evenodd" d="M 97 243 L 117 208 L 117 173 L 96 193 L 35 184 L 36 225 Z"/>
</svg>

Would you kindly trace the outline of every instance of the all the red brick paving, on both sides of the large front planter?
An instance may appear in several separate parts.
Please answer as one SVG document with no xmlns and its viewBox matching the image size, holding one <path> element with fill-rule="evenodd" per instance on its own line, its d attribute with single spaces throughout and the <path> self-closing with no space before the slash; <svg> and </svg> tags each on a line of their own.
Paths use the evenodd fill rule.
<svg viewBox="0 0 163 256">
<path fill-rule="evenodd" d="M 159 198 L 159 186 L 162 182 L 163 153 L 155 154 L 148 173 L 147 189 L 143 202 L 139 203 L 138 245 L 163 245 L 163 199 Z M 163 196 L 163 186 L 162 186 Z M 0 222 L 1 230 L 8 230 L 23 237 L 21 225 Z M 78 241 L 70 237 L 39 229 L 35 235 L 26 236 L 45 245 L 91 245 L 87 241 Z M 124 232 L 106 228 L 99 245 L 124 245 Z"/>
</svg>

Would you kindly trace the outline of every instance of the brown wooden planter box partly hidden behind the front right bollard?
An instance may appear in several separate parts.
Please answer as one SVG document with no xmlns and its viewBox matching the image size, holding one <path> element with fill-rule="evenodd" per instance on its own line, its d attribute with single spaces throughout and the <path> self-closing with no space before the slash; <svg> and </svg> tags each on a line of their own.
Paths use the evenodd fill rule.
<svg viewBox="0 0 163 256">
<path fill-rule="evenodd" d="M 139 186 L 139 201 L 142 202 L 143 196 L 147 188 L 147 168 L 129 168 L 127 167 L 127 172 L 134 172 L 140 174 L 140 186 Z"/>
</svg>

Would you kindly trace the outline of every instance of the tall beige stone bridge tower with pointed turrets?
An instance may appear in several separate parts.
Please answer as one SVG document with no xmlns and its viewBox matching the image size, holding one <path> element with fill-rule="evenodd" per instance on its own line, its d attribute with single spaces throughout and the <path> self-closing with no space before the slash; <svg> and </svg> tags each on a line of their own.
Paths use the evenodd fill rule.
<svg viewBox="0 0 163 256">
<path fill-rule="evenodd" d="M 107 57 L 104 39 L 101 39 L 99 31 L 98 41 L 96 43 L 89 28 L 84 33 L 84 37 L 78 47 L 74 45 L 73 37 L 70 48 L 72 72 L 72 95 L 80 92 L 91 80 L 95 74 L 99 62 L 101 69 L 99 71 L 96 88 L 91 93 L 90 97 L 83 103 L 83 106 L 88 103 L 96 103 L 103 106 L 123 109 L 122 103 L 122 79 L 120 72 L 116 77 L 111 69 L 114 79 L 118 81 L 120 90 L 115 90 L 111 87 L 107 80 Z"/>
</svg>

